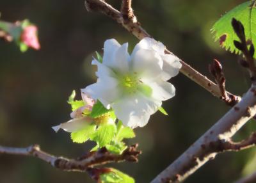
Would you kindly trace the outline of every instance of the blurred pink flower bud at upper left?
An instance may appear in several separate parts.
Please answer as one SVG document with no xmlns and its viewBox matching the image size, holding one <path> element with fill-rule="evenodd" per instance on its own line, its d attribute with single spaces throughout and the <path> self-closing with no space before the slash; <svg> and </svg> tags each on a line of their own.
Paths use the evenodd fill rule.
<svg viewBox="0 0 256 183">
<path fill-rule="evenodd" d="M 40 49 L 36 26 L 27 26 L 20 35 L 20 41 L 33 49 Z"/>
</svg>

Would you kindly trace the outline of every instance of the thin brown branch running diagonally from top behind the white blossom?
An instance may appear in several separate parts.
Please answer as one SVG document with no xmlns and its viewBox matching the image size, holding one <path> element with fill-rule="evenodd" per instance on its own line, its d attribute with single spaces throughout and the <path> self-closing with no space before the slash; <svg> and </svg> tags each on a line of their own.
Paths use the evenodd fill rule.
<svg viewBox="0 0 256 183">
<path fill-rule="evenodd" d="M 100 12 L 104 15 L 107 15 L 108 17 L 111 17 L 111 19 L 118 22 L 118 24 L 121 24 L 125 29 L 127 29 L 130 33 L 132 33 L 140 40 L 145 37 L 152 37 L 147 33 L 147 31 L 145 31 L 145 29 L 141 27 L 140 22 L 138 22 L 136 16 L 133 14 L 131 10 L 131 1 L 122 1 L 121 12 L 119 12 L 103 0 L 86 0 L 85 6 L 88 12 Z M 124 12 L 129 12 L 129 16 L 124 16 Z M 168 51 L 168 49 L 166 49 L 165 52 L 167 54 L 173 54 L 172 52 Z M 192 68 L 184 61 L 180 60 L 180 63 L 182 64 L 182 68 L 180 69 L 180 72 L 182 74 L 189 77 L 189 79 L 191 79 L 192 81 L 195 81 L 195 83 L 205 88 L 205 90 L 212 93 L 212 95 L 214 95 L 215 97 L 221 98 L 220 88 L 217 84 L 207 79 L 206 76 L 200 74 L 198 71 L 196 71 L 194 68 Z M 232 94 L 227 92 L 227 95 Z M 237 101 L 241 99 L 241 97 L 238 97 L 236 95 L 233 96 L 237 99 Z"/>
</svg>

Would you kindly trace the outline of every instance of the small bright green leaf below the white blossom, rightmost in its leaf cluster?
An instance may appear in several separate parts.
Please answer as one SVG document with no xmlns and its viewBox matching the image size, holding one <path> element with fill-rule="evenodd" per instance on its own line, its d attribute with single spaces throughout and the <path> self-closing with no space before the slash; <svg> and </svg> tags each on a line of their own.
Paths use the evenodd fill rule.
<svg viewBox="0 0 256 183">
<path fill-rule="evenodd" d="M 117 133 L 115 139 L 117 141 L 122 141 L 124 138 L 134 138 L 135 133 L 130 127 L 124 127 L 121 121 L 117 123 Z"/>
</svg>

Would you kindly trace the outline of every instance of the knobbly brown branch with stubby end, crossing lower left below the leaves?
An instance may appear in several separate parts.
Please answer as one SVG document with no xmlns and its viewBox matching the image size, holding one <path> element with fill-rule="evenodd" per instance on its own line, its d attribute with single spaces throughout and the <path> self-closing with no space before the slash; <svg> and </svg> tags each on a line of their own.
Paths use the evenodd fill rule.
<svg viewBox="0 0 256 183">
<path fill-rule="evenodd" d="M 138 162 L 138 155 L 141 151 L 137 150 L 137 145 L 128 147 L 122 154 L 111 154 L 106 148 L 101 148 L 95 152 L 90 152 L 83 157 L 77 159 L 67 159 L 65 157 L 57 157 L 48 154 L 42 150 L 38 145 L 31 145 L 27 148 L 13 148 L 0 146 L 0 154 L 14 154 L 14 155 L 29 155 L 42 159 L 50 163 L 53 167 L 64 171 L 89 171 L 93 167 L 107 164 L 119 163 L 122 161 Z M 90 168 L 90 169 L 88 169 Z"/>
</svg>

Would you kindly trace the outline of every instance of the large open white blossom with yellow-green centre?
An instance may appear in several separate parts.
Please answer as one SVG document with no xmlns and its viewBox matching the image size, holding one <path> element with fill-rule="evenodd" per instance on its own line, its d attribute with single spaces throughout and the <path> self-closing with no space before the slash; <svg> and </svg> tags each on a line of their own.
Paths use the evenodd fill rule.
<svg viewBox="0 0 256 183">
<path fill-rule="evenodd" d="M 81 91 L 100 100 L 115 111 L 116 117 L 129 127 L 143 127 L 150 115 L 156 113 L 163 100 L 175 95 L 168 79 L 179 73 L 179 58 L 164 54 L 164 45 L 152 38 L 144 38 L 132 51 L 128 44 L 115 39 L 104 43 L 103 61 L 97 65 L 97 83 Z"/>
</svg>

